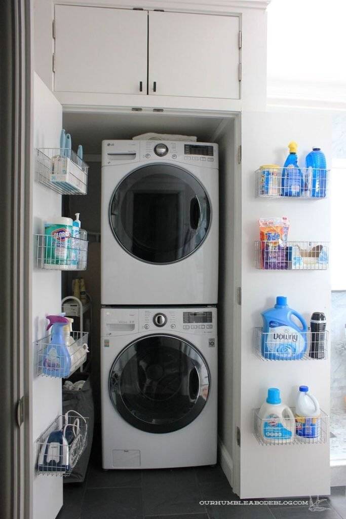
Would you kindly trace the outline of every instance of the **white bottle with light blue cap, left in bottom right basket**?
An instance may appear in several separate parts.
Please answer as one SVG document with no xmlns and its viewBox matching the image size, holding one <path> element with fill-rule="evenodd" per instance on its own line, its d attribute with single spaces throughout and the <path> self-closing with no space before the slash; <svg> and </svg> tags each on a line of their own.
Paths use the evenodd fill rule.
<svg viewBox="0 0 346 519">
<path fill-rule="evenodd" d="M 265 443 L 290 443 L 294 439 L 295 418 L 280 398 L 280 389 L 269 388 L 258 412 L 258 433 Z"/>
</svg>

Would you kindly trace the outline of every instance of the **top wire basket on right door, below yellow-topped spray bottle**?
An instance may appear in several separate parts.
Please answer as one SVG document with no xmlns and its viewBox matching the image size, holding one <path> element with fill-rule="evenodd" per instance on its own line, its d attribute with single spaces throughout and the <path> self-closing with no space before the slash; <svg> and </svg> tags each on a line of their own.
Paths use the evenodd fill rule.
<svg viewBox="0 0 346 519">
<path fill-rule="evenodd" d="M 264 198 L 326 198 L 329 170 L 261 166 L 256 172 L 256 196 Z"/>
</svg>

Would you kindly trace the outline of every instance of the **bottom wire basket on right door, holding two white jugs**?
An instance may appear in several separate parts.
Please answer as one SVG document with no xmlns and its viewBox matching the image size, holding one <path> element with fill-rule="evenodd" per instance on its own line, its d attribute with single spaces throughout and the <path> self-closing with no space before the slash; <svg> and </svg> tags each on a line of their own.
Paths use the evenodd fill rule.
<svg viewBox="0 0 346 519">
<path fill-rule="evenodd" d="M 298 417 L 291 407 L 293 417 L 271 416 L 261 418 L 259 408 L 253 409 L 254 436 L 260 445 L 297 445 L 326 443 L 329 416 L 320 411 L 320 416 Z"/>
</svg>

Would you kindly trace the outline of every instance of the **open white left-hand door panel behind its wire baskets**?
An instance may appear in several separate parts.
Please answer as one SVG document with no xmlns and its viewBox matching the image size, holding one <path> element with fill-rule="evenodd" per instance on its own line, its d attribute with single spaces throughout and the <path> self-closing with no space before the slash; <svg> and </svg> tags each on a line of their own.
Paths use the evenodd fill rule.
<svg viewBox="0 0 346 519">
<path fill-rule="evenodd" d="M 61 105 L 35 74 L 34 146 L 36 148 L 59 147 L 61 128 Z M 60 215 L 61 195 L 35 181 L 33 188 L 33 234 L 43 234 L 44 223 L 47 218 Z M 35 247 L 34 252 L 36 253 Z M 34 341 L 47 334 L 45 331 L 47 326 L 46 315 L 61 312 L 61 272 L 34 268 L 32 293 Z M 37 377 L 35 354 L 33 362 L 33 439 L 35 441 L 54 418 L 61 414 L 62 392 L 61 379 Z M 36 444 L 34 444 L 34 449 L 36 449 Z M 53 519 L 62 506 L 62 478 L 35 473 L 33 494 L 34 519 Z"/>
</svg>

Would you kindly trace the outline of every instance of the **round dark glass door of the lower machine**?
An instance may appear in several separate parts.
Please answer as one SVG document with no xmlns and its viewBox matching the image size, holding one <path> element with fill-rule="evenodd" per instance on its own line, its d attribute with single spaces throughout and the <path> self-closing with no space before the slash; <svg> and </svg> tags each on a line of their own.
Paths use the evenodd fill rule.
<svg viewBox="0 0 346 519">
<path fill-rule="evenodd" d="M 109 374 L 113 405 L 129 424 L 147 432 L 172 432 L 192 422 L 209 394 L 201 354 L 182 339 L 151 335 L 127 346 Z"/>
</svg>

